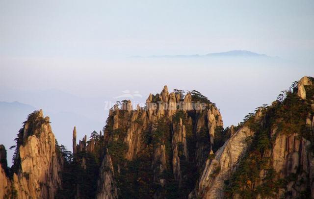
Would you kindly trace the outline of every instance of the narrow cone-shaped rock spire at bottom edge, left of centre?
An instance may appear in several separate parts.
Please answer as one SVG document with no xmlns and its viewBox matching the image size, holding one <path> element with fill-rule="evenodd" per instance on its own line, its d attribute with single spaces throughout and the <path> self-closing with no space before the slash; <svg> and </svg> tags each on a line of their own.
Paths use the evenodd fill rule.
<svg viewBox="0 0 314 199">
<path fill-rule="evenodd" d="M 117 199 L 118 190 L 116 182 L 114 180 L 114 170 L 111 161 L 111 157 L 106 151 L 103 159 L 102 166 L 100 168 L 99 180 L 97 182 L 97 199 Z"/>
</svg>

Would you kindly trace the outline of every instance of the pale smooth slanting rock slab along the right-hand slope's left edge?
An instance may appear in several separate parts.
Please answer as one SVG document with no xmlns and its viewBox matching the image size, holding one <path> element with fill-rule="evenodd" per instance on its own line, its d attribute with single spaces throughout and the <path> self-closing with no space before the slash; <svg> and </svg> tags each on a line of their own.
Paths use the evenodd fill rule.
<svg viewBox="0 0 314 199">
<path fill-rule="evenodd" d="M 230 178 L 238 159 L 247 148 L 244 142 L 247 137 L 254 135 L 247 126 L 240 128 L 231 138 L 215 153 L 214 159 L 208 159 L 204 172 L 197 184 L 196 190 L 189 198 L 196 196 L 206 199 L 223 198 L 224 180 Z"/>
</svg>

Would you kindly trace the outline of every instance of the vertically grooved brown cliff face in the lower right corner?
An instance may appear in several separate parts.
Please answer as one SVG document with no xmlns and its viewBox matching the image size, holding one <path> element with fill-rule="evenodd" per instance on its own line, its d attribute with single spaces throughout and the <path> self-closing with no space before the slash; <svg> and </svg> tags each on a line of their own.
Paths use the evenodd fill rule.
<svg viewBox="0 0 314 199">
<path fill-rule="evenodd" d="M 312 184 L 311 195 L 314 197 L 314 155 L 313 152 L 308 151 L 310 147 L 311 142 L 304 138 L 300 139 L 296 133 L 288 136 L 280 134 L 276 137 L 271 151 L 273 168 L 279 174 L 279 178 L 287 178 L 291 174 L 296 174 L 295 180 L 288 183 L 286 190 L 280 190 L 279 196 L 287 193 L 287 198 L 298 198 L 301 196 L 300 193 L 306 192 L 307 186 Z M 300 183 L 301 180 L 302 183 Z"/>
</svg>

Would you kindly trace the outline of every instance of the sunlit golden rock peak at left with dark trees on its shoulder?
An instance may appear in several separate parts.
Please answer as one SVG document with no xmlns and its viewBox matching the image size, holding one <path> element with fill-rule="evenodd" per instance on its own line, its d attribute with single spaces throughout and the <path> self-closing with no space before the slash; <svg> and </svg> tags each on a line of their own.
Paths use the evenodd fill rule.
<svg viewBox="0 0 314 199">
<path fill-rule="evenodd" d="M 20 199 L 53 199 L 61 185 L 62 161 L 49 123 L 40 110 L 20 130 L 12 182 Z"/>
</svg>

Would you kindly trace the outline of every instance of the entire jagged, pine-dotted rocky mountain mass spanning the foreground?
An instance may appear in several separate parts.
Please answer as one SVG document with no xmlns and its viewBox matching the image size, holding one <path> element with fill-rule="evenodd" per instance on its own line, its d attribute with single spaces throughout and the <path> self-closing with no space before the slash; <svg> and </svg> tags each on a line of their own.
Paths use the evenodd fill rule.
<svg viewBox="0 0 314 199">
<path fill-rule="evenodd" d="M 146 107 L 117 103 L 103 132 L 77 142 L 74 128 L 73 154 L 35 111 L 10 169 L 0 146 L 0 198 L 313 198 L 313 80 L 225 129 L 202 94 L 165 86 Z"/>
</svg>

